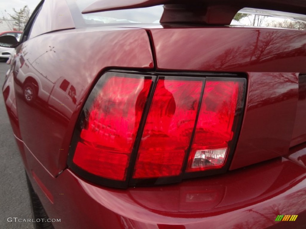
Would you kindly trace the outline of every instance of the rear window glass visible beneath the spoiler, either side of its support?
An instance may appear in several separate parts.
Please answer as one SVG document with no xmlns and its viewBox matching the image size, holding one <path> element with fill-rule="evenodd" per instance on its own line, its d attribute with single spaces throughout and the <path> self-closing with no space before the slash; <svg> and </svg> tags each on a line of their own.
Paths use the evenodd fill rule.
<svg viewBox="0 0 306 229">
<path fill-rule="evenodd" d="M 97 0 L 66 0 L 76 27 L 91 27 L 120 24 L 159 24 L 163 6 L 147 8 L 110 10 L 105 12 L 81 12 Z M 243 8 L 233 18 L 231 25 L 253 27 L 279 27 L 287 29 L 306 29 L 306 16 L 273 10 Z"/>
</svg>

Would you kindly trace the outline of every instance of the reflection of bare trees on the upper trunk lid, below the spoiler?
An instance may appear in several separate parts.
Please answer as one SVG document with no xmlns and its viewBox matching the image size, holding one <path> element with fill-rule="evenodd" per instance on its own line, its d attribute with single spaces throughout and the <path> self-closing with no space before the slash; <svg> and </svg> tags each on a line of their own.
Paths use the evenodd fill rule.
<svg viewBox="0 0 306 229">
<path fill-rule="evenodd" d="M 226 49 L 220 55 L 206 63 L 212 70 L 234 68 L 241 64 L 259 64 L 269 60 L 289 58 L 292 56 L 304 56 L 306 43 L 301 44 L 304 34 L 290 34 L 282 31 L 252 31 L 252 36 L 246 45 L 236 45 Z M 282 41 L 290 40 L 290 44 L 284 45 Z"/>
</svg>

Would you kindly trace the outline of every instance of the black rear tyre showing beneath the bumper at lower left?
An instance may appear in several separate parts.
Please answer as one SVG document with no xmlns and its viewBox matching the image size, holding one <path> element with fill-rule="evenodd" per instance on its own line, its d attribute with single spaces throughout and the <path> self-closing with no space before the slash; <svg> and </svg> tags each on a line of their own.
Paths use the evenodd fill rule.
<svg viewBox="0 0 306 229">
<path fill-rule="evenodd" d="M 27 173 L 25 173 L 27 177 L 27 183 L 28 183 L 28 188 L 29 188 L 29 193 L 30 193 L 30 201 L 31 201 L 31 208 L 32 208 L 32 216 L 34 218 L 34 227 L 35 229 L 54 229 L 53 225 L 51 222 L 48 222 L 48 216 L 47 213 L 45 212 L 45 209 L 43 208 L 42 203 L 40 202 L 37 194 L 35 193 L 31 182 L 28 178 Z M 39 219 L 39 220 L 36 220 Z M 39 221 L 39 222 L 37 222 Z"/>
</svg>

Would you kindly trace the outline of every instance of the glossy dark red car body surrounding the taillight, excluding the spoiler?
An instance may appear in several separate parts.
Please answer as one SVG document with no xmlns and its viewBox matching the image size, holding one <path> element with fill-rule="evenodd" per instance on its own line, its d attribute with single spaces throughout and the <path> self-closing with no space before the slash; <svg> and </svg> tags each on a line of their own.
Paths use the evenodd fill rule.
<svg viewBox="0 0 306 229">
<path fill-rule="evenodd" d="M 48 217 L 61 219 L 55 228 L 305 227 L 305 31 L 185 24 L 76 28 L 66 3 L 54 2 L 44 4 L 64 19 L 49 18 L 50 27 L 21 41 L 3 94 L 32 186 Z M 52 10 L 42 7 L 37 18 Z M 228 171 L 125 189 L 76 174 L 67 166 L 76 122 L 98 78 L 112 69 L 242 75 L 245 105 Z M 54 91 L 63 78 L 74 88 L 70 99 Z M 49 97 L 29 104 L 23 85 L 33 80 Z M 63 111 L 62 102 L 73 97 L 70 111 Z M 50 105 L 51 98 L 59 102 Z M 278 222 L 278 215 L 298 217 Z"/>
</svg>

